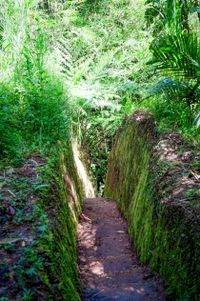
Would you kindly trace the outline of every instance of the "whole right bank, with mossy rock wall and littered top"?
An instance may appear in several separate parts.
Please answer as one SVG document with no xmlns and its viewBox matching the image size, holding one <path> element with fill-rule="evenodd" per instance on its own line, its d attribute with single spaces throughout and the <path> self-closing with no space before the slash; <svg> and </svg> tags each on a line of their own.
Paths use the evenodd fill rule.
<svg viewBox="0 0 200 301">
<path fill-rule="evenodd" d="M 142 262 L 173 300 L 200 300 L 198 149 L 158 134 L 142 111 L 124 121 L 110 155 L 105 196 L 115 199 Z"/>
</svg>

